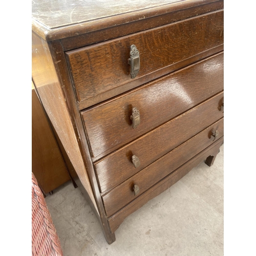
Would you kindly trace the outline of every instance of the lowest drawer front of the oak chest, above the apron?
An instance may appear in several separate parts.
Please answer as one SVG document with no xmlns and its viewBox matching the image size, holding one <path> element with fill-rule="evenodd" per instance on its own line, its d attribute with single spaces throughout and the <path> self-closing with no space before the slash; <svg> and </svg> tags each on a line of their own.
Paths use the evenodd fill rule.
<svg viewBox="0 0 256 256">
<path fill-rule="evenodd" d="M 216 130 L 218 131 L 218 138 L 221 138 L 223 136 L 223 125 L 222 118 L 104 195 L 102 199 L 106 215 L 108 217 L 114 215 L 158 181 L 214 143 L 215 140 L 211 134 L 215 134 Z M 133 190 L 135 185 L 139 187 L 139 194 L 136 196 Z"/>
</svg>

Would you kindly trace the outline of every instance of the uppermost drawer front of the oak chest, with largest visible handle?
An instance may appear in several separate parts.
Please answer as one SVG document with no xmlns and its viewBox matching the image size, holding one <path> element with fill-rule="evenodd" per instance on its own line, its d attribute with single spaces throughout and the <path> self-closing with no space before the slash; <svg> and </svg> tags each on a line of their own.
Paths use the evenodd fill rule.
<svg viewBox="0 0 256 256">
<path fill-rule="evenodd" d="M 68 51 L 66 56 L 77 100 L 80 102 L 123 84 L 134 83 L 138 78 L 222 44 L 223 11 L 216 11 Z M 134 79 L 130 76 L 131 66 L 127 61 L 130 58 L 131 45 L 137 47 L 140 56 L 140 70 Z M 191 60 L 190 63 L 194 61 Z M 185 63 L 188 64 L 189 62 Z M 156 77 L 159 76 L 151 79 Z M 140 84 L 144 82 L 141 81 Z M 109 93 L 107 98 L 113 96 Z M 102 97 L 100 101 L 106 99 Z"/>
</svg>

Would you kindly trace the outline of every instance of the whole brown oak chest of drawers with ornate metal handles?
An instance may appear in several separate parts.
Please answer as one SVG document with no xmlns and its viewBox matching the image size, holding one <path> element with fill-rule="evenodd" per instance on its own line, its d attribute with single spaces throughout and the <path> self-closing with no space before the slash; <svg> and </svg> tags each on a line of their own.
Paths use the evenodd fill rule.
<svg viewBox="0 0 256 256">
<path fill-rule="evenodd" d="M 223 142 L 223 1 L 34 1 L 32 78 L 108 243 Z"/>
</svg>

